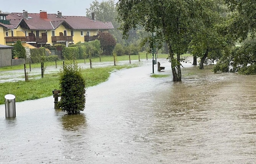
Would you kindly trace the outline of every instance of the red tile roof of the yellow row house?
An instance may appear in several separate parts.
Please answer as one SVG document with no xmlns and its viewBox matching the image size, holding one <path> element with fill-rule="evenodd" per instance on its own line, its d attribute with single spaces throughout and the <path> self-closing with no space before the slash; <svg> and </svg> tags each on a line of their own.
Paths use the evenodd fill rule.
<svg viewBox="0 0 256 164">
<path fill-rule="evenodd" d="M 11 13 L 6 16 L 6 19 L 10 19 L 10 23 L 17 28 L 21 19 L 23 19 L 23 13 Z M 47 14 L 47 19 L 40 17 L 39 13 L 28 13 L 28 19 L 23 19 L 31 30 L 54 30 L 60 24 L 65 23 L 68 28 L 71 29 L 113 29 L 111 22 L 101 22 L 98 20 L 91 20 L 84 16 L 62 16 L 58 14 Z"/>
</svg>

